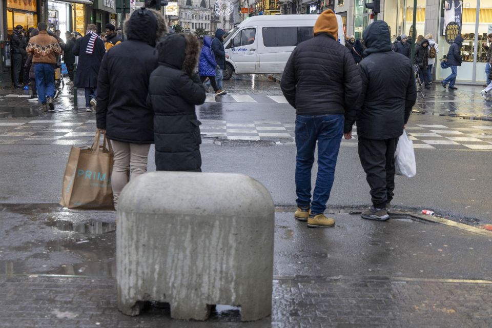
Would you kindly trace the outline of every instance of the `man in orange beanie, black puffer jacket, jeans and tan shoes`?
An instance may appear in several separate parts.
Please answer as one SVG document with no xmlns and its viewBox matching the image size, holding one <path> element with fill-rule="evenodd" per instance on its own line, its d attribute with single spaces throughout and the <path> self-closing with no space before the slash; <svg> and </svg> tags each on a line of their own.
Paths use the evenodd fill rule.
<svg viewBox="0 0 492 328">
<path fill-rule="evenodd" d="M 299 221 L 308 227 L 333 227 L 324 216 L 335 178 L 344 114 L 352 110 L 361 80 L 351 52 L 338 43 L 335 13 L 324 11 L 314 38 L 299 44 L 283 72 L 280 87 L 296 109 L 296 193 Z M 311 169 L 318 145 L 318 176 L 311 200 Z"/>
</svg>

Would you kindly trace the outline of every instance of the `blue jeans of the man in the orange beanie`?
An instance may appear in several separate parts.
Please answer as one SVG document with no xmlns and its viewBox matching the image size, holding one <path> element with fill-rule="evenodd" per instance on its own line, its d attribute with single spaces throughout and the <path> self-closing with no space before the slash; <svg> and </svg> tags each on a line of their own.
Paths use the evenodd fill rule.
<svg viewBox="0 0 492 328">
<path fill-rule="evenodd" d="M 343 135 L 343 115 L 297 115 L 296 117 L 296 194 L 297 206 L 311 207 L 311 214 L 322 214 L 330 198 L 338 150 Z M 318 175 L 311 201 L 311 169 L 318 141 Z"/>
</svg>

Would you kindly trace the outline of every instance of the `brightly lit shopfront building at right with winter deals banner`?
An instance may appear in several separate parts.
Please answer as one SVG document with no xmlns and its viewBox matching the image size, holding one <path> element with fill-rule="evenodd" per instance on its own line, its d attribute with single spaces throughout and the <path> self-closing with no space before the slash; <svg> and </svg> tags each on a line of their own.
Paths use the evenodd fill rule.
<svg viewBox="0 0 492 328">
<path fill-rule="evenodd" d="M 335 11 L 346 17 L 346 35 L 362 37 L 371 22 L 371 13 L 365 8 L 367 0 L 336 0 Z M 381 0 L 381 13 L 377 19 L 385 20 L 391 28 L 392 38 L 401 34 L 411 35 L 413 0 Z M 432 34 L 438 44 L 438 59 L 447 54 L 456 33 L 464 38 L 462 66 L 458 69 L 460 83 L 483 84 L 485 76 L 486 36 L 492 33 L 492 0 L 417 0 L 416 35 Z M 451 24 L 450 24 L 451 23 Z M 455 27 L 447 30 L 446 26 Z M 455 33 L 455 34 L 453 34 Z M 452 35 L 452 36 L 451 36 Z M 440 80 L 450 74 L 439 65 L 433 69 Z"/>
</svg>

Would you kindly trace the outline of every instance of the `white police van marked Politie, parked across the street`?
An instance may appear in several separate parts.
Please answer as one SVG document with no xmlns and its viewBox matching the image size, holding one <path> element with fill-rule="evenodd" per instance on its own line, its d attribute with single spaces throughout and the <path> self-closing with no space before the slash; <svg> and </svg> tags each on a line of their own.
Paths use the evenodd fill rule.
<svg viewBox="0 0 492 328">
<path fill-rule="evenodd" d="M 337 16 L 338 41 L 345 45 L 342 17 Z M 264 15 L 244 20 L 224 39 L 224 80 L 236 74 L 282 73 L 294 48 L 313 37 L 319 15 Z"/>
</svg>

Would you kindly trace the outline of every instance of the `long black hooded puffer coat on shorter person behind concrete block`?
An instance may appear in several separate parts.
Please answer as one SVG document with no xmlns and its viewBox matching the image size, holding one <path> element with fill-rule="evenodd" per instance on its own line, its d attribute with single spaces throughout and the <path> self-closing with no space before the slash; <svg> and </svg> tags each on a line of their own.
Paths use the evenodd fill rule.
<svg viewBox="0 0 492 328">
<path fill-rule="evenodd" d="M 159 43 L 159 67 L 152 72 L 149 103 L 154 110 L 158 171 L 201 171 L 200 121 L 195 105 L 206 99 L 197 75 L 199 44 L 191 34 L 171 34 Z"/>
</svg>

